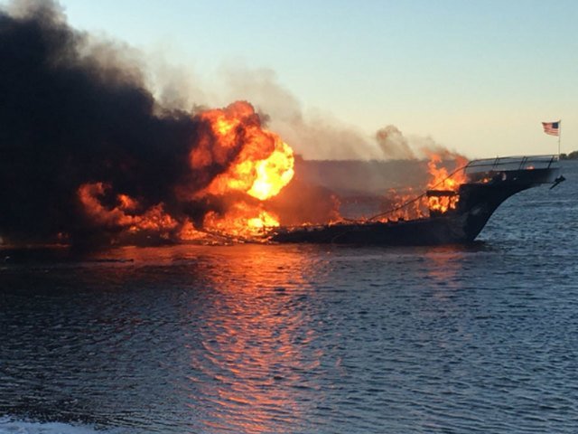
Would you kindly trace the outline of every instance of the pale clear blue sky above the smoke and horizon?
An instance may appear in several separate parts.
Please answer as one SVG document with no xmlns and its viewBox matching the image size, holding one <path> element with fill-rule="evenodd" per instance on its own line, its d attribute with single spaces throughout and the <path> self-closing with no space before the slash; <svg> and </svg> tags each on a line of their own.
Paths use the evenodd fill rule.
<svg viewBox="0 0 578 434">
<path fill-rule="evenodd" d="M 575 0 L 61 5 L 75 28 L 163 52 L 190 71 L 192 87 L 218 88 L 235 65 L 268 71 L 305 116 L 322 113 L 368 139 L 393 124 L 471 157 L 548 154 L 557 138 L 540 122 L 562 118 L 563 152 L 578 149 Z"/>
</svg>

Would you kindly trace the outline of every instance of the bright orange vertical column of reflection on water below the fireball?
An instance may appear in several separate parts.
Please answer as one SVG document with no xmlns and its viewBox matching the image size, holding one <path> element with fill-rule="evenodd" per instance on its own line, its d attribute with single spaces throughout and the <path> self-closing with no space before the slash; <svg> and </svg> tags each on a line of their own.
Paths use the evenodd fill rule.
<svg viewBox="0 0 578 434">
<path fill-rule="evenodd" d="M 213 302 L 202 313 L 201 345 L 191 348 L 190 379 L 200 392 L 192 407 L 207 400 L 203 423 L 214 430 L 291 427 L 311 405 L 303 397 L 316 390 L 303 373 L 322 355 L 310 348 L 303 255 L 273 246 L 224 253 L 226 271 L 212 276 Z"/>
</svg>

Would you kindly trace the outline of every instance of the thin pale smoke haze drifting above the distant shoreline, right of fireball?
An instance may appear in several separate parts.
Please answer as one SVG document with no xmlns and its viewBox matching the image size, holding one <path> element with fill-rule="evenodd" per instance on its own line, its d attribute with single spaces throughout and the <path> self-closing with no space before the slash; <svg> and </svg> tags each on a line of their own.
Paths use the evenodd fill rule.
<svg viewBox="0 0 578 434">
<path fill-rule="evenodd" d="M 236 63 L 223 67 L 221 75 L 222 87 L 227 89 L 225 100 L 252 101 L 266 114 L 270 127 L 307 160 L 420 160 L 432 153 L 448 157 L 455 154 L 432 137 L 406 137 L 394 125 L 378 129 L 371 137 L 331 114 L 305 110 L 301 101 L 278 82 L 275 71 L 248 69 Z"/>
</svg>

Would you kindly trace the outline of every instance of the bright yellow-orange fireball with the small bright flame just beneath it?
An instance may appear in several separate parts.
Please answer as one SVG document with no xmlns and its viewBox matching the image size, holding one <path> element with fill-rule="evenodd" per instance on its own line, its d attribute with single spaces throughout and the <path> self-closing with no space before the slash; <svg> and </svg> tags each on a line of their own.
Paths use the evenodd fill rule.
<svg viewBox="0 0 578 434">
<path fill-rule="evenodd" d="M 250 104 L 238 101 L 225 109 L 205 111 L 200 118 L 210 127 L 210 135 L 191 151 L 191 165 L 222 164 L 226 156 L 236 156 L 228 169 L 215 177 L 198 196 L 247 193 L 259 201 L 266 201 L 292 180 L 293 149 L 271 131 L 261 128 Z M 247 237 L 263 228 L 279 225 L 275 214 L 266 212 L 261 204 L 250 203 L 237 201 L 226 212 L 210 212 L 203 226 Z"/>
</svg>

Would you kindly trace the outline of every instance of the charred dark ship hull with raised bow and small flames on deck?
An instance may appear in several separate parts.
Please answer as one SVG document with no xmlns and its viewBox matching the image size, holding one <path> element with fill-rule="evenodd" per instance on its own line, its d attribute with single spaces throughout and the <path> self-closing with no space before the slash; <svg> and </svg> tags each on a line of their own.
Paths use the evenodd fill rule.
<svg viewBox="0 0 578 434">
<path fill-rule="evenodd" d="M 275 228 L 269 233 L 270 241 L 382 245 L 467 243 L 478 236 L 500 203 L 531 187 L 559 184 L 564 181 L 559 172 L 557 156 L 473 160 L 395 209 L 367 220 Z M 455 182 L 456 177 L 463 182 Z M 427 203 L 429 215 L 413 220 L 387 218 L 387 214 L 419 201 Z"/>
</svg>

